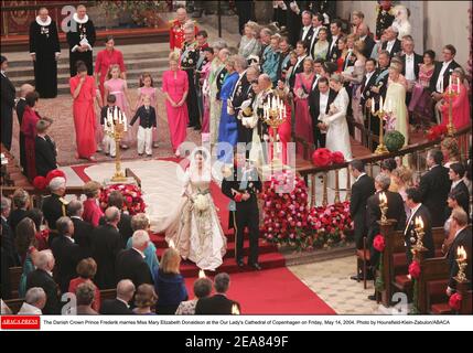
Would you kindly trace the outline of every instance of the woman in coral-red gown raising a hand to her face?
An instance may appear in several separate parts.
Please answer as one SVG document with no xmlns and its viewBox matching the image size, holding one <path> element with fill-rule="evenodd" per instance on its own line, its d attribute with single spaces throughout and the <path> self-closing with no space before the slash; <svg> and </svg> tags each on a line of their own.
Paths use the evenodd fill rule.
<svg viewBox="0 0 473 353">
<path fill-rule="evenodd" d="M 87 66 L 77 62 L 77 75 L 71 77 L 71 94 L 74 98 L 74 126 L 76 130 L 76 158 L 95 161 L 97 150 L 95 142 L 95 79 L 87 76 Z"/>
</svg>

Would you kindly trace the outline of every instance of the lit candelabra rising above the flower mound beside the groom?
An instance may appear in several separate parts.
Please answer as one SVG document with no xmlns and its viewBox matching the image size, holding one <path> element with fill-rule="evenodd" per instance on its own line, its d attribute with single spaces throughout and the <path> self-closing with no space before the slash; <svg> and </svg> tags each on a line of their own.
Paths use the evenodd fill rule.
<svg viewBox="0 0 473 353">
<path fill-rule="evenodd" d="M 286 121 L 286 105 L 279 97 L 272 97 L 262 106 L 262 120 L 272 129 L 271 143 L 273 149 L 271 168 L 281 168 L 282 161 L 280 159 L 278 148 L 278 129 Z"/>
</svg>

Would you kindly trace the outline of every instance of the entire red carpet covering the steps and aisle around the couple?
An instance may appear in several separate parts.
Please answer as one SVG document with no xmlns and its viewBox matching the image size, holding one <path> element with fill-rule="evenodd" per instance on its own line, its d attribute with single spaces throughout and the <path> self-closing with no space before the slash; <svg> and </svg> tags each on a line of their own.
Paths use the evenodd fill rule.
<svg viewBox="0 0 473 353">
<path fill-rule="evenodd" d="M 169 159 L 175 161 L 175 159 Z M 84 172 L 86 165 L 76 165 L 72 169 L 77 175 L 87 182 L 90 179 Z M 212 184 L 212 196 L 218 207 L 219 218 L 228 246 L 223 265 L 216 272 L 232 274 L 232 285 L 228 297 L 241 304 L 244 314 L 335 314 L 322 299 L 311 291 L 298 277 L 286 268 L 286 259 L 275 245 L 260 239 L 259 264 L 262 271 L 252 271 L 250 268 L 238 268 L 235 260 L 235 235 L 228 229 L 228 202 L 222 194 L 218 185 Z M 158 248 L 160 258 L 168 243 L 164 236 L 152 234 L 151 240 Z M 245 255 L 248 254 L 248 240 L 245 242 Z M 247 257 L 245 257 L 247 261 Z M 181 264 L 181 274 L 186 278 L 190 296 L 193 296 L 193 282 L 198 277 L 198 268 L 190 261 Z M 215 274 L 206 272 L 208 277 Z"/>
</svg>

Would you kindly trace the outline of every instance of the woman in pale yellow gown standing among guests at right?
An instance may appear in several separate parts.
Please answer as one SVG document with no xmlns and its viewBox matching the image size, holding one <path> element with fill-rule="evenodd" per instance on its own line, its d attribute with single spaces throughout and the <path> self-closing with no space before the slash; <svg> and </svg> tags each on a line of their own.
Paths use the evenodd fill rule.
<svg viewBox="0 0 473 353">
<path fill-rule="evenodd" d="M 409 122 L 406 107 L 407 81 L 400 74 L 400 65 L 391 63 L 389 66 L 388 89 L 384 110 L 390 115 L 386 122 L 386 131 L 397 130 L 405 137 L 405 146 L 409 143 Z"/>
</svg>

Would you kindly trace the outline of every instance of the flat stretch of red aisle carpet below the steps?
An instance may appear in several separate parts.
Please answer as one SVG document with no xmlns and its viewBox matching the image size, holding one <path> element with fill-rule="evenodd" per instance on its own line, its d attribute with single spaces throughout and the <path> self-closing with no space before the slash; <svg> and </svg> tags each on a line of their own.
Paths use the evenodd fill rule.
<svg viewBox="0 0 473 353">
<path fill-rule="evenodd" d="M 186 279 L 190 293 L 194 279 Z M 243 314 L 336 314 L 286 267 L 234 274 L 227 295 Z"/>
</svg>

